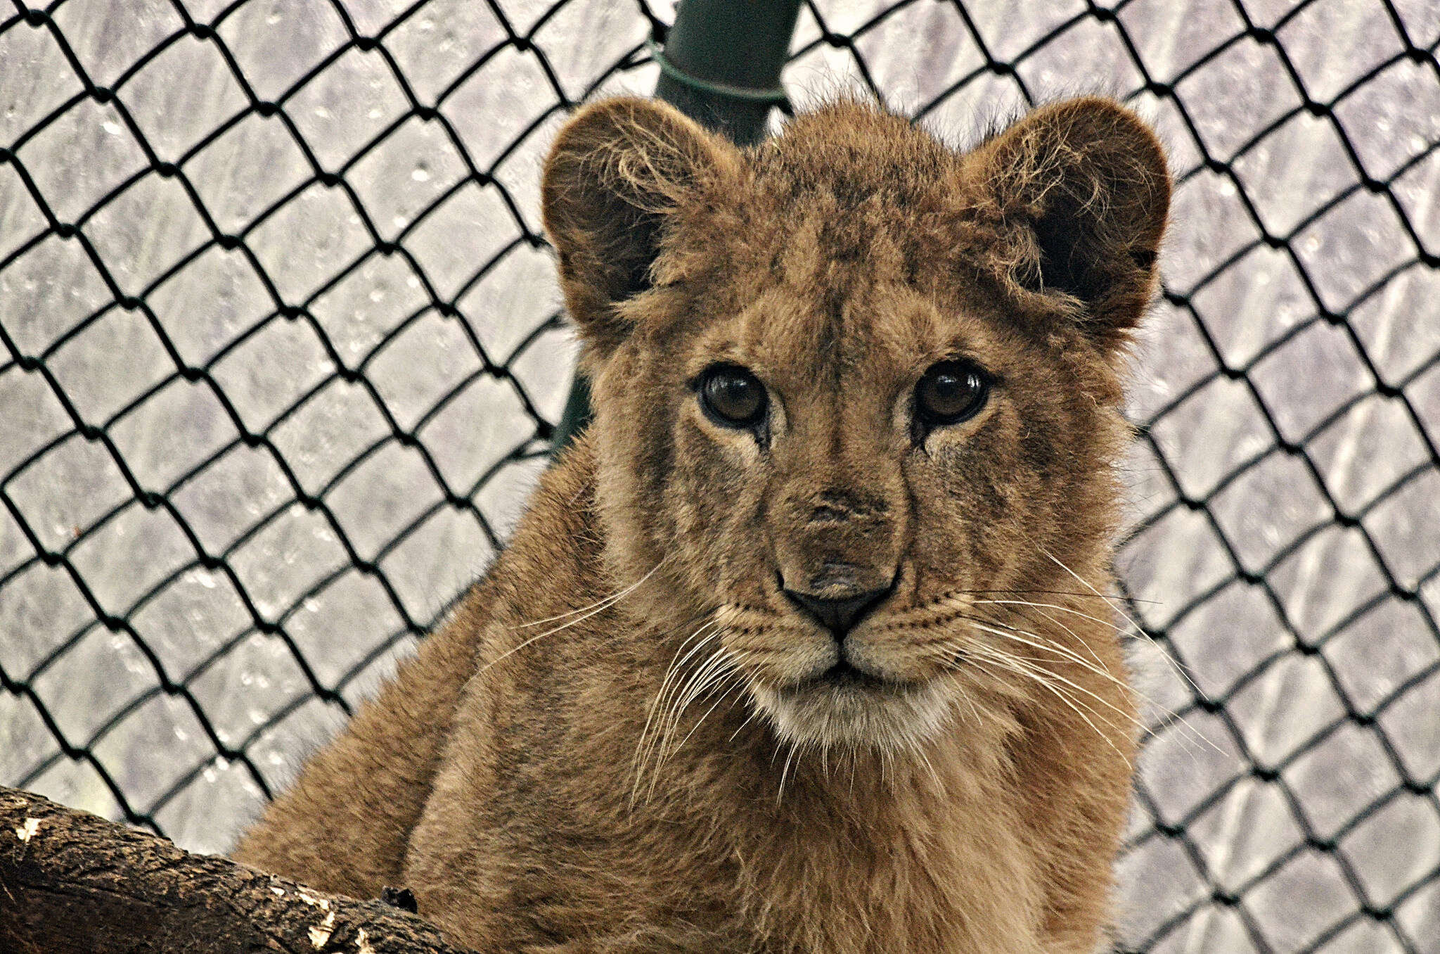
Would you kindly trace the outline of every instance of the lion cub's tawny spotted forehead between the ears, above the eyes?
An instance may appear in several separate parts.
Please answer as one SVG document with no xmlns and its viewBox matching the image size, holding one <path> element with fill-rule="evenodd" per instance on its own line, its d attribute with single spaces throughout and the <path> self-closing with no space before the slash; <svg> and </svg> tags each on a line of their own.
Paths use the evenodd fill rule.
<svg viewBox="0 0 1440 954">
<path fill-rule="evenodd" d="M 732 196 L 739 228 L 703 282 L 687 372 L 732 360 L 773 383 L 887 382 L 995 347 L 981 317 L 995 303 L 952 254 L 959 160 L 933 137 L 840 104 L 747 159 L 752 176 Z"/>
</svg>

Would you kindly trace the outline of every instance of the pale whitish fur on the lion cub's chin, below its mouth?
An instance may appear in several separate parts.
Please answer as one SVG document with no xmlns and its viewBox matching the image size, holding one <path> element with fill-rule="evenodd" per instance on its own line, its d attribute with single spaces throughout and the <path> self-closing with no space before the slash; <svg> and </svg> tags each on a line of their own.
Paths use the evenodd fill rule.
<svg viewBox="0 0 1440 954">
<path fill-rule="evenodd" d="M 950 716 L 949 700 L 935 683 L 883 692 L 857 686 L 752 686 L 752 693 L 780 738 L 825 749 L 914 749 L 945 728 Z"/>
</svg>

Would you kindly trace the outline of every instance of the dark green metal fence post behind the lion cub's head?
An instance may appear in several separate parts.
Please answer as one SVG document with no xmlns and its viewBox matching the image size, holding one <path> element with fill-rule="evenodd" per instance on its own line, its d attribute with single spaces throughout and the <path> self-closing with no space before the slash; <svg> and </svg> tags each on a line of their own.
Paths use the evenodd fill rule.
<svg viewBox="0 0 1440 954">
<path fill-rule="evenodd" d="M 801 0 L 681 0 L 660 63 L 655 97 L 740 146 L 765 138 L 773 107 L 788 108 L 780 69 Z M 554 432 L 563 450 L 590 419 L 590 389 L 576 375 Z"/>
</svg>

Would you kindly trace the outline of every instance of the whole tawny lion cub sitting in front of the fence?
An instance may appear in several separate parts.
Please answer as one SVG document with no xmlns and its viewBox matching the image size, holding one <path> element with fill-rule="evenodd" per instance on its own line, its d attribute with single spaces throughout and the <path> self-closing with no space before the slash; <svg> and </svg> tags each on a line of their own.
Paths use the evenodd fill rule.
<svg viewBox="0 0 1440 954">
<path fill-rule="evenodd" d="M 235 856 L 484 953 L 1092 951 L 1130 780 L 1130 329 L 1169 176 L 1106 99 L 969 153 L 644 99 L 544 171 L 595 422 Z"/>
</svg>

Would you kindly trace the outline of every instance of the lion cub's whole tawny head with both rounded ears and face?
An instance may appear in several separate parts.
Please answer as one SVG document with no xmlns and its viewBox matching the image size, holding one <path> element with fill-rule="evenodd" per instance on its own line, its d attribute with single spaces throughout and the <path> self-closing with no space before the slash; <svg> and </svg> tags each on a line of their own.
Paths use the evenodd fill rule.
<svg viewBox="0 0 1440 954">
<path fill-rule="evenodd" d="M 852 102 L 753 150 L 652 101 L 582 110 L 543 205 L 608 558 L 713 624 L 783 736 L 933 734 L 1001 685 L 978 594 L 1102 578 L 1168 202 L 1104 99 L 963 154 Z"/>
</svg>

